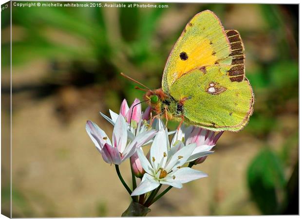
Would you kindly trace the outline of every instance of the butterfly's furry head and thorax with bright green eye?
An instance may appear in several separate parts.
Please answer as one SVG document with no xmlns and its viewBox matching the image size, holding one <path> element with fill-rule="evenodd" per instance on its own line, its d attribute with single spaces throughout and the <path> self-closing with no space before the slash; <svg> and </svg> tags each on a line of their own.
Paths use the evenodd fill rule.
<svg viewBox="0 0 302 219">
<path fill-rule="evenodd" d="M 148 101 L 156 115 L 167 116 L 169 120 L 183 115 L 183 103 L 175 100 L 161 88 L 148 91 L 144 99 Z"/>
</svg>

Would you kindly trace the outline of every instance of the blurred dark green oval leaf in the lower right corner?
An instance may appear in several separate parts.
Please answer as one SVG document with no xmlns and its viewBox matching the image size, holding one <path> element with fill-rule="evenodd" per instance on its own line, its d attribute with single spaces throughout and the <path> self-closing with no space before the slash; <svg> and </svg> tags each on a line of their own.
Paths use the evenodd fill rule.
<svg viewBox="0 0 302 219">
<path fill-rule="evenodd" d="M 265 215 L 281 212 L 286 181 L 281 161 L 269 148 L 263 149 L 247 170 L 252 199 Z"/>
</svg>

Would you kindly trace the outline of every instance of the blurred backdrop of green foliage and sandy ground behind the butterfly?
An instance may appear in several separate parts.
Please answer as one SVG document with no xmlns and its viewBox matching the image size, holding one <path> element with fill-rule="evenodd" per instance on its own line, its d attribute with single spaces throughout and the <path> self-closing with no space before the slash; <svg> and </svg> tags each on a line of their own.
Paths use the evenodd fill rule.
<svg viewBox="0 0 302 219">
<path fill-rule="evenodd" d="M 111 136 L 99 111 L 108 115 L 123 98 L 131 104 L 143 95 L 120 72 L 160 88 L 173 44 L 189 19 L 206 9 L 225 29 L 241 33 L 254 113 L 244 130 L 224 133 L 215 153 L 195 166 L 208 178 L 173 188 L 149 216 L 299 213 L 299 6 L 161 5 L 168 8 L 12 8 L 13 217 L 121 215 L 129 196 L 87 135 L 86 120 Z M 2 13 L 2 146 L 9 141 L 3 134 L 9 122 L 9 22 Z M 7 152 L 2 148 L 2 155 Z M 130 183 L 128 162 L 121 171 Z M 2 213 L 9 212 L 7 174 L 2 158 Z"/>
</svg>

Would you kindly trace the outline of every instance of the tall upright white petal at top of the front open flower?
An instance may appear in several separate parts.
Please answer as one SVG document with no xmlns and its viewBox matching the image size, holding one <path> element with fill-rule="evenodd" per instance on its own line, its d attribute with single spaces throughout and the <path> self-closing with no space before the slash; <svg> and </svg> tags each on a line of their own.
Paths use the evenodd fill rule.
<svg viewBox="0 0 302 219">
<path fill-rule="evenodd" d="M 150 148 L 150 161 L 154 169 L 162 167 L 167 162 L 168 146 L 166 131 L 162 128 L 157 132 Z M 159 166 L 162 164 L 161 166 Z"/>
</svg>

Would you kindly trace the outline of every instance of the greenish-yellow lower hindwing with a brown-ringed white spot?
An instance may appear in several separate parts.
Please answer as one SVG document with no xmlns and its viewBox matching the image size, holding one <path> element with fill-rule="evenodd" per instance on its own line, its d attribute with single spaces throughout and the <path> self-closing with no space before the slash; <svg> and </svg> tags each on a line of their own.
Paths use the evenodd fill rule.
<svg viewBox="0 0 302 219">
<path fill-rule="evenodd" d="M 239 131 L 252 114 L 254 96 L 245 78 L 233 81 L 232 67 L 211 65 L 184 74 L 171 85 L 170 95 L 183 103 L 185 121 L 214 131 Z"/>
</svg>

